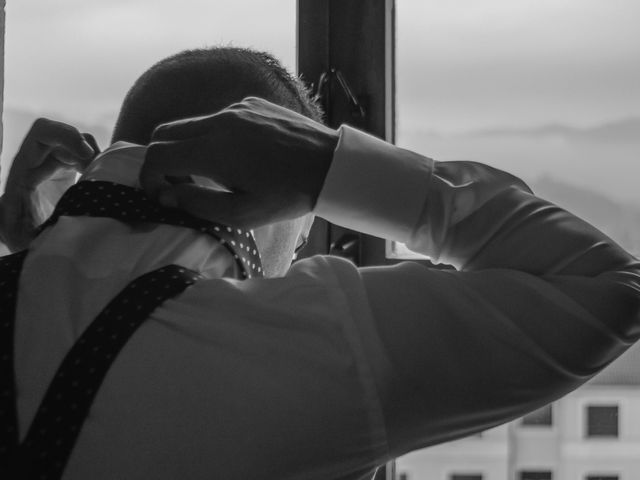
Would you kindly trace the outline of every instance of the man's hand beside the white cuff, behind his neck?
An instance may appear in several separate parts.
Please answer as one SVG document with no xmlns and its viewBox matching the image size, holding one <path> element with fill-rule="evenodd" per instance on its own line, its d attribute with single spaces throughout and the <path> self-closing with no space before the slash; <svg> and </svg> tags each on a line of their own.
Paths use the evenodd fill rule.
<svg viewBox="0 0 640 480">
<path fill-rule="evenodd" d="M 192 215 L 259 227 L 311 212 L 337 142 L 335 130 L 251 97 L 213 115 L 158 127 L 140 184 L 161 203 Z M 191 175 L 226 191 L 167 179 Z"/>
</svg>

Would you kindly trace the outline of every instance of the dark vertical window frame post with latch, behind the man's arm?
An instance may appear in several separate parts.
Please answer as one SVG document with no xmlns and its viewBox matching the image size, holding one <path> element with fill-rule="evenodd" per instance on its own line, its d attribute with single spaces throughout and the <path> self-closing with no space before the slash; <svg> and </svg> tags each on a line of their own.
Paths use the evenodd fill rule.
<svg viewBox="0 0 640 480">
<path fill-rule="evenodd" d="M 353 28 L 353 19 L 358 27 Z M 357 101 L 364 107 L 363 119 L 353 115 L 344 93 L 329 82 L 323 99 L 326 123 L 343 123 L 389 142 L 395 141 L 395 0 L 298 0 L 297 73 L 313 91 L 320 77 L 332 69 L 341 72 Z M 366 45 L 366 48 L 359 48 Z M 353 238 L 349 249 L 336 252 L 345 238 Z M 334 247 L 334 249 L 332 249 Z M 316 219 L 308 247 L 298 258 L 316 254 L 338 254 L 357 265 L 383 265 L 388 261 L 385 240 L 364 235 L 322 219 Z M 393 480 L 395 463 L 379 468 L 375 480 Z"/>
</svg>

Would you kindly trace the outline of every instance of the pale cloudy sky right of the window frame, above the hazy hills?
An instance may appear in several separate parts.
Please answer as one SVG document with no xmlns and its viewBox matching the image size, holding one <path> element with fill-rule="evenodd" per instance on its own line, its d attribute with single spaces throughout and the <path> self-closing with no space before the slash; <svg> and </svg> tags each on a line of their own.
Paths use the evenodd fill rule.
<svg viewBox="0 0 640 480">
<path fill-rule="evenodd" d="M 586 127 L 640 115 L 637 0 L 397 6 L 401 128 Z"/>
</svg>

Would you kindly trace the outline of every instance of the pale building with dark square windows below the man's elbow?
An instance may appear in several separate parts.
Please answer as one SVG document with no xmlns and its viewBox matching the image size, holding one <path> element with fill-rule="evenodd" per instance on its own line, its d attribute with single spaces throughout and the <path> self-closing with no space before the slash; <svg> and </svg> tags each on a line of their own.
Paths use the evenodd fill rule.
<svg viewBox="0 0 640 480">
<path fill-rule="evenodd" d="M 396 469 L 398 480 L 640 480 L 640 344 L 552 405 Z"/>
</svg>

